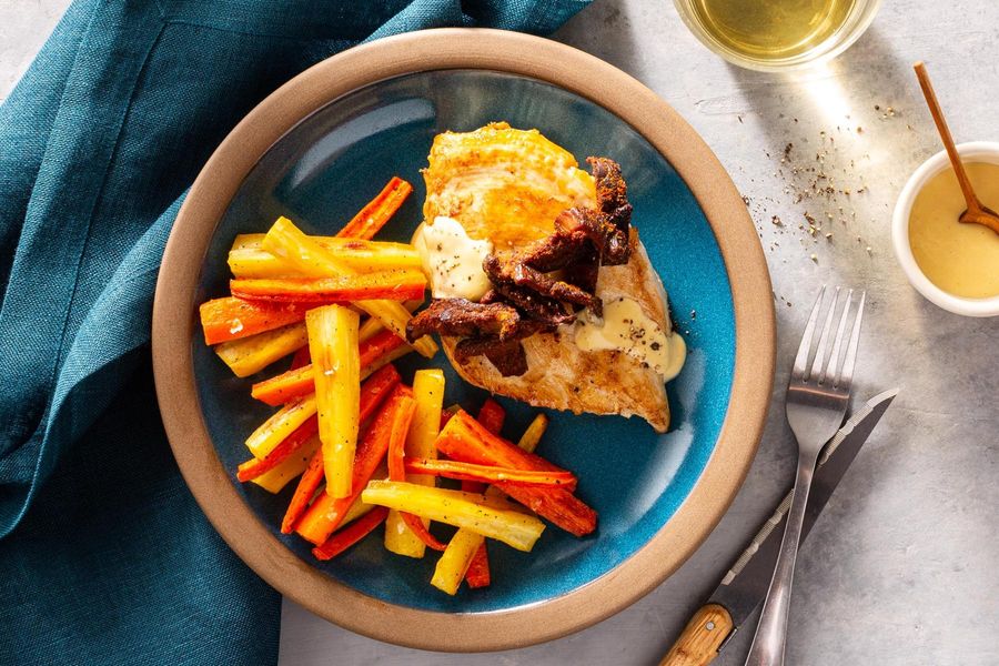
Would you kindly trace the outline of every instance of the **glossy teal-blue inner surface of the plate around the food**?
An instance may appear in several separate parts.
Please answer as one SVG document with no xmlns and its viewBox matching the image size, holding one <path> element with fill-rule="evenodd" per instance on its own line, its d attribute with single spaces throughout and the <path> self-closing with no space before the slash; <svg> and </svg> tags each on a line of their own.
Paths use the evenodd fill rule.
<svg viewBox="0 0 999 666">
<path fill-rule="evenodd" d="M 333 234 L 392 175 L 406 179 L 415 191 L 379 238 L 408 240 L 422 220 L 424 188 L 420 170 L 426 165 L 434 135 L 445 130 L 474 130 L 496 120 L 515 128 L 537 128 L 574 153 L 581 163 L 587 155 L 607 155 L 622 164 L 635 208 L 634 224 L 668 291 L 674 321 L 689 347 L 683 372 L 668 385 L 673 416 L 666 434 L 657 434 L 637 418 L 549 414 L 552 424 L 538 453 L 576 473 L 578 495 L 599 514 L 596 533 L 576 538 L 549 526 L 532 553 L 491 542 L 491 587 L 470 591 L 463 586 L 454 597 L 430 586 L 436 554 L 428 551 L 426 557 L 414 561 L 389 553 L 382 545 L 381 529 L 336 559 L 317 562 L 310 553 L 310 544 L 279 531 L 295 484 L 289 484 L 275 496 L 255 484 L 239 483 L 234 475 L 239 463 L 248 458 L 243 441 L 273 412 L 250 398 L 250 384 L 283 372 L 287 362 L 275 363 L 259 376 L 239 380 L 196 332 L 186 339 L 203 425 L 231 488 L 272 537 L 301 563 L 342 584 L 335 589 L 350 588 L 394 608 L 447 614 L 509 613 L 565 597 L 588 583 L 604 579 L 669 525 L 690 497 L 713 457 L 729 412 L 737 365 L 736 307 L 723 249 L 692 188 L 676 165 L 618 114 L 563 87 L 509 71 L 416 71 L 355 89 L 307 114 L 255 160 L 213 231 L 204 235 L 208 242 L 193 303 L 228 294 L 226 252 L 236 234 L 263 232 L 279 215 L 291 218 L 306 232 Z M 239 132 L 238 128 L 235 133 Z M 210 163 L 206 171 L 211 167 Z M 190 211 L 182 212 L 178 226 L 185 214 L 191 216 Z M 164 272 L 170 259 L 168 251 Z M 397 366 L 407 382 L 416 369 L 444 369 L 445 404 L 458 403 L 474 413 L 486 396 L 457 377 L 443 352 L 432 361 L 411 354 Z M 769 376 L 757 385 L 768 393 Z M 161 400 L 162 394 L 161 387 Z M 508 413 L 504 435 L 515 440 L 537 410 L 506 398 L 500 402 Z M 169 405 L 163 411 L 169 428 Z M 761 418 L 761 414 L 758 416 Z M 174 433 L 171 440 L 176 448 Z M 753 441 L 743 446 L 739 464 L 728 470 L 736 481 L 728 484 L 733 487 L 725 488 L 725 504 L 740 482 L 755 444 L 754 434 Z M 178 457 L 186 467 L 181 452 Z M 186 468 L 184 473 L 198 494 Z M 208 505 L 212 502 L 202 496 L 199 500 L 211 517 L 213 512 Z M 218 519 L 214 522 L 218 526 Z M 698 525 L 694 538 L 703 538 L 709 527 Z M 450 536 L 448 528 L 438 528 L 440 537 Z M 220 531 L 230 543 L 236 538 L 222 527 Z M 684 535 L 679 538 L 683 541 Z M 687 552 L 694 546 L 696 543 L 685 545 Z M 253 564 L 252 557 L 246 558 Z M 644 589 L 665 576 L 663 572 L 652 572 L 644 579 L 640 573 L 637 575 L 636 586 Z M 282 587 L 282 582 L 269 579 Z M 336 613 L 327 616 L 356 626 Z M 357 628 L 379 634 L 366 630 L 367 627 Z M 547 637 L 544 630 L 537 636 Z M 393 633 L 380 637 L 426 646 Z M 493 647 L 503 642 L 478 645 Z M 466 647 L 447 642 L 432 646 Z"/>
</svg>

